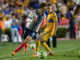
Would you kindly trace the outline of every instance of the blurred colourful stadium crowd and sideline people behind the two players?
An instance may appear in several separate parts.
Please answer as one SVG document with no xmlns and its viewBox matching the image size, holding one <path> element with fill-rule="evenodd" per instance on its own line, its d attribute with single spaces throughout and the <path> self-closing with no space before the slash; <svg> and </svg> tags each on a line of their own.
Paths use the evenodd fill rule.
<svg viewBox="0 0 80 60">
<path fill-rule="evenodd" d="M 16 34 L 20 43 L 27 17 L 34 9 L 39 9 L 40 4 L 46 5 L 45 14 L 47 7 L 53 7 L 58 15 L 59 26 L 69 26 L 70 38 L 76 38 L 77 31 L 80 37 L 80 6 L 75 10 L 76 3 L 77 0 L 0 0 L 0 40 L 1 31 L 9 28 L 12 36 L 9 38 L 14 42 Z"/>
</svg>

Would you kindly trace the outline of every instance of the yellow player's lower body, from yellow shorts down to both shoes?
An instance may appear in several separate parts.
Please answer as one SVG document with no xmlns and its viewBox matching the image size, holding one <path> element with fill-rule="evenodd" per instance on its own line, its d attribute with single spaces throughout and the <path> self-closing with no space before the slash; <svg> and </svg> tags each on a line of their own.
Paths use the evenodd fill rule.
<svg viewBox="0 0 80 60">
<path fill-rule="evenodd" d="M 54 53 L 52 53 L 51 52 L 51 49 L 48 47 L 48 45 L 45 43 L 47 40 L 48 40 L 48 38 L 50 37 L 50 34 L 49 34 L 49 32 L 43 32 L 42 34 L 41 34 L 41 44 L 44 46 L 44 48 L 49 52 L 49 55 L 53 55 Z M 38 52 L 39 52 L 39 46 L 40 46 L 40 40 L 37 40 L 36 41 L 36 54 L 34 54 L 33 56 L 38 56 Z"/>
</svg>

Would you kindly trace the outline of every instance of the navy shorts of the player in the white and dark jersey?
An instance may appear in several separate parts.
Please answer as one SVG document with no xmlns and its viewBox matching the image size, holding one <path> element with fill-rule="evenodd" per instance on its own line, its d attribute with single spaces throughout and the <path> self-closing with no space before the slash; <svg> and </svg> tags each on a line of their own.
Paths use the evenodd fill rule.
<svg viewBox="0 0 80 60">
<path fill-rule="evenodd" d="M 25 39 L 27 36 L 31 36 L 33 39 L 36 39 L 37 32 L 31 31 L 27 27 L 25 27 L 23 32 L 23 38 Z"/>
</svg>

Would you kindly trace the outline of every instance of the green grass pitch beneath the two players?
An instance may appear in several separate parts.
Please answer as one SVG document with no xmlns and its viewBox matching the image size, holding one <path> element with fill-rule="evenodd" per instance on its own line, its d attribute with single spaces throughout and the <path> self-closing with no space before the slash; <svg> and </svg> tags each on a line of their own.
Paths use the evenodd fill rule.
<svg viewBox="0 0 80 60">
<path fill-rule="evenodd" d="M 27 51 L 23 53 L 23 49 L 19 51 L 15 56 L 11 56 L 11 52 L 14 51 L 19 44 L 0 43 L 0 60 L 80 60 L 80 40 L 58 40 L 57 48 L 52 48 L 55 53 L 54 56 L 47 56 L 46 59 L 40 59 L 39 57 L 32 57 L 34 51 Z M 2 48 L 1 48 L 2 47 Z M 40 51 L 45 51 L 41 46 Z"/>
</svg>

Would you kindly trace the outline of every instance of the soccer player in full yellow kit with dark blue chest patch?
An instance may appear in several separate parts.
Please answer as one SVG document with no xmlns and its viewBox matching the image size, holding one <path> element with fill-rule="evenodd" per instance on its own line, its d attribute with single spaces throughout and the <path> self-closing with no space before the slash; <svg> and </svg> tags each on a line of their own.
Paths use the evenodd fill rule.
<svg viewBox="0 0 80 60">
<path fill-rule="evenodd" d="M 50 9 L 50 12 L 47 16 L 47 24 L 44 32 L 40 34 L 40 39 L 36 40 L 36 54 L 33 56 L 38 56 L 40 43 L 49 52 L 49 55 L 54 55 L 54 53 L 51 52 L 51 49 L 46 44 L 46 41 L 48 41 L 51 36 L 54 36 L 56 34 L 57 25 L 57 15 L 52 9 Z"/>
</svg>

